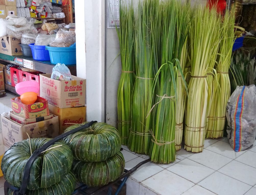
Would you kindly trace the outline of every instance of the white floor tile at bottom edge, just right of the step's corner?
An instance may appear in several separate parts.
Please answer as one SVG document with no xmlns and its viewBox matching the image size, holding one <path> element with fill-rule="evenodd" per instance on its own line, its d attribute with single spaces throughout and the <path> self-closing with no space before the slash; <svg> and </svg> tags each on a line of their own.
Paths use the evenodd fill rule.
<svg viewBox="0 0 256 195">
<path fill-rule="evenodd" d="M 194 186 L 192 182 L 167 170 L 142 181 L 142 184 L 162 195 L 180 195 Z"/>
</svg>

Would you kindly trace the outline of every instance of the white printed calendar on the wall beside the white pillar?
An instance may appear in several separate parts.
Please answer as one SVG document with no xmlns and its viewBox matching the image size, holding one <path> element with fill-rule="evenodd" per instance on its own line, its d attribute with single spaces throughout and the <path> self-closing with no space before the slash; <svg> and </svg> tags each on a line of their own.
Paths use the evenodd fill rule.
<svg viewBox="0 0 256 195">
<path fill-rule="evenodd" d="M 108 29 L 119 28 L 119 0 L 108 0 Z"/>
</svg>

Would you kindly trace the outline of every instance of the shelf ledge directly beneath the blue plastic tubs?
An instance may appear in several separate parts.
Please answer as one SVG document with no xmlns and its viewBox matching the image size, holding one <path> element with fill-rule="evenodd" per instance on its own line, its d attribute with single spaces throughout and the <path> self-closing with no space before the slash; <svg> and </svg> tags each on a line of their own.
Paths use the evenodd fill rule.
<svg viewBox="0 0 256 195">
<path fill-rule="evenodd" d="M 52 68 L 55 66 L 55 64 L 51 64 L 50 61 L 36 61 L 33 58 L 27 58 L 24 56 L 13 56 L 13 57 L 15 58 L 14 61 L 5 60 L 1 58 L 0 58 L 0 61 L 2 60 L 8 63 L 16 64 L 18 66 L 26 67 L 29 69 L 33 69 L 33 70 L 48 73 L 48 74 L 52 73 Z M 24 60 L 26 62 L 25 64 L 24 64 Z M 72 75 L 74 76 L 77 75 L 76 66 L 67 66 L 67 67 L 69 68 Z"/>
</svg>

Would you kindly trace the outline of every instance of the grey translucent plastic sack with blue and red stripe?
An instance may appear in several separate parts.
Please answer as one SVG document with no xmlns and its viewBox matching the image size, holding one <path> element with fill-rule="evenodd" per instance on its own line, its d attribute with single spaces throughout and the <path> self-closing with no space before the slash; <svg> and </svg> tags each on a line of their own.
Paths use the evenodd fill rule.
<svg viewBox="0 0 256 195">
<path fill-rule="evenodd" d="M 256 87 L 237 86 L 226 108 L 227 137 L 231 147 L 243 151 L 253 145 L 256 136 Z"/>
</svg>

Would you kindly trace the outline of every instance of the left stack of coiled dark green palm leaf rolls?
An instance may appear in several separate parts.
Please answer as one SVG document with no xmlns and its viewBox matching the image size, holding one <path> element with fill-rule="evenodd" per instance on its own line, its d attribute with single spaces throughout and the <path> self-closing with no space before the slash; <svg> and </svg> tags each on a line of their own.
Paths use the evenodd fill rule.
<svg viewBox="0 0 256 195">
<path fill-rule="evenodd" d="M 33 138 L 15 143 L 3 156 L 1 168 L 9 184 L 20 188 L 23 170 L 35 150 L 46 144 L 49 138 Z M 63 141 L 57 141 L 43 151 L 30 168 L 26 195 L 71 195 L 76 178 L 70 171 L 73 163 L 71 149 Z M 14 192 L 9 190 L 8 195 Z"/>
</svg>

